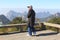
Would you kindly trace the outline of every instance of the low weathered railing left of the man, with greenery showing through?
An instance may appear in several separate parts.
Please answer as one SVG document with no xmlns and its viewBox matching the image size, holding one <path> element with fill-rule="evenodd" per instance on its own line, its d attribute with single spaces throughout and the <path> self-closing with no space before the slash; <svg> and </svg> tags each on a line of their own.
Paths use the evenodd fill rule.
<svg viewBox="0 0 60 40">
<path fill-rule="evenodd" d="M 39 24 L 35 24 L 35 26 L 38 26 Z M 16 28 L 18 31 L 11 32 L 11 29 Z M 24 29 L 25 28 L 25 29 Z M 27 31 L 27 23 L 21 23 L 21 24 L 7 24 L 7 25 L 0 25 L 0 29 L 3 29 L 3 32 L 0 32 L 0 34 L 4 33 L 15 33 L 15 32 L 24 32 Z"/>
</svg>

